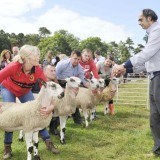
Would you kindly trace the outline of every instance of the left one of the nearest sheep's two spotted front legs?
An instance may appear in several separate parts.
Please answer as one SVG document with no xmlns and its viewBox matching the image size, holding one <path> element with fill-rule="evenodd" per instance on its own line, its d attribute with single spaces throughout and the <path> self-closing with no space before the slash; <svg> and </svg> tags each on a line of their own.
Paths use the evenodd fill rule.
<svg viewBox="0 0 160 160">
<path fill-rule="evenodd" d="M 25 133 L 25 140 L 27 145 L 27 160 L 32 160 L 33 143 L 32 143 L 33 131 Z"/>
</svg>

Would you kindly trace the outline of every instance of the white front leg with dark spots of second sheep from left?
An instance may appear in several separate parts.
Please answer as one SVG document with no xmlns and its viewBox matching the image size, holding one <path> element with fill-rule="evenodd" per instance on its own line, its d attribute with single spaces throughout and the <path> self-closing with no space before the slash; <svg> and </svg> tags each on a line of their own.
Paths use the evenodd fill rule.
<svg viewBox="0 0 160 160">
<path fill-rule="evenodd" d="M 66 141 L 65 141 L 65 131 L 66 131 L 66 121 L 67 121 L 67 118 L 66 116 L 60 116 L 59 117 L 60 119 L 60 142 L 61 144 L 65 144 Z"/>
</svg>

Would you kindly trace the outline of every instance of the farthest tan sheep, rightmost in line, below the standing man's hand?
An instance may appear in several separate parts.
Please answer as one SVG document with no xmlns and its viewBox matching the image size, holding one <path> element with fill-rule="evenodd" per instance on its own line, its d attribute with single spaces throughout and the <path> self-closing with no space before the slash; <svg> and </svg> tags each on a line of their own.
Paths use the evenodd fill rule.
<svg viewBox="0 0 160 160">
<path fill-rule="evenodd" d="M 113 99 L 116 91 L 117 91 L 117 81 L 116 79 L 111 79 L 109 85 L 105 87 L 104 90 L 102 91 L 102 96 L 100 99 L 100 102 L 106 104 L 104 105 L 104 115 L 110 113 L 109 101 Z"/>
</svg>

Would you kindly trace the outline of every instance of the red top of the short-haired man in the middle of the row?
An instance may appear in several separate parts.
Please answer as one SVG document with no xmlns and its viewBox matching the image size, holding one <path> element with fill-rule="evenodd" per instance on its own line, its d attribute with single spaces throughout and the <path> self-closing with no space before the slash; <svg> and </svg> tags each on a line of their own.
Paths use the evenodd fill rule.
<svg viewBox="0 0 160 160">
<path fill-rule="evenodd" d="M 92 59 L 90 59 L 87 62 L 83 62 L 82 59 L 80 60 L 79 64 L 82 66 L 84 72 L 85 72 L 85 77 L 87 79 L 91 79 L 91 72 L 93 73 L 94 78 L 98 79 L 98 71 L 96 68 L 96 65 Z"/>
</svg>

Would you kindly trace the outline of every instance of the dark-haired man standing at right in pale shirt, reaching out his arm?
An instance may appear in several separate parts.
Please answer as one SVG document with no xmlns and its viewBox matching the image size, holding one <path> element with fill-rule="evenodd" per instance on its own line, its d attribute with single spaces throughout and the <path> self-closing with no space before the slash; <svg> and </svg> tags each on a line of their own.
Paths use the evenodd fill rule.
<svg viewBox="0 0 160 160">
<path fill-rule="evenodd" d="M 160 156 L 160 25 L 151 9 L 142 10 L 139 25 L 147 31 L 144 49 L 122 65 L 115 65 L 113 73 L 119 76 L 128 71 L 144 68 L 150 76 L 150 128 L 154 139 L 153 153 Z"/>
</svg>

